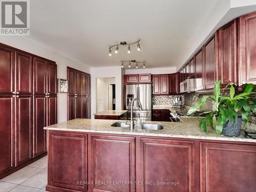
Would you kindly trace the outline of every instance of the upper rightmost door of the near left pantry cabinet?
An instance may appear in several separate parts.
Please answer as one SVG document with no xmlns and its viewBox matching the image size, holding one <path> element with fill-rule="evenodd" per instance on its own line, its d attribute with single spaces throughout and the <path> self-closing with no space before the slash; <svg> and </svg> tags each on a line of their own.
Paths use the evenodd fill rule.
<svg viewBox="0 0 256 192">
<path fill-rule="evenodd" d="M 51 95 L 57 94 L 57 65 L 55 63 L 48 63 L 48 88 L 47 93 L 50 93 Z"/>
</svg>

